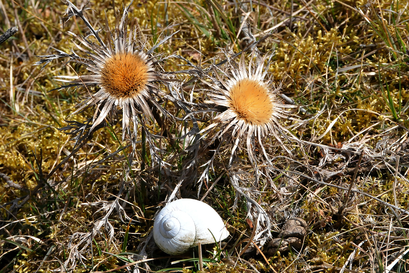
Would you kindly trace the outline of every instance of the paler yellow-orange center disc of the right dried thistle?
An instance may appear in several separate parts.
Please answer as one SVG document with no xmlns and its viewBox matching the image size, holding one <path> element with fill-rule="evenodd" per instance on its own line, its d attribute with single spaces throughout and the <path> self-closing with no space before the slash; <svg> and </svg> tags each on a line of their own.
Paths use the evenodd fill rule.
<svg viewBox="0 0 409 273">
<path fill-rule="evenodd" d="M 259 81 L 242 79 L 229 92 L 229 108 L 239 119 L 254 125 L 267 124 L 274 111 L 268 90 Z"/>
</svg>

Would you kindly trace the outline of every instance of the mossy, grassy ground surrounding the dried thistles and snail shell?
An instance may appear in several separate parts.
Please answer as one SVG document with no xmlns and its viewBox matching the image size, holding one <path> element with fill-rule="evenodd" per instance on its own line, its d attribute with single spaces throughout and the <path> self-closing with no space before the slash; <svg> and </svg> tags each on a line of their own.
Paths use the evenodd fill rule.
<svg viewBox="0 0 409 273">
<path fill-rule="evenodd" d="M 158 113 L 146 124 L 162 136 L 155 146 L 166 168 L 152 161 L 139 128 L 128 176 L 131 147 L 122 141 L 121 117 L 76 146 L 69 131 L 59 129 L 69 120 L 92 117 L 94 109 L 70 117 L 86 90 L 58 90 L 53 77 L 85 74 L 84 65 L 65 65 L 67 59 L 43 69 L 33 64 L 37 56 L 55 54 L 53 48 L 78 53 L 69 32 L 88 35 L 85 24 L 75 16 L 61 20 L 67 8 L 62 1 L 0 3 L 0 30 L 19 27 L 0 45 L 0 272 L 198 271 L 197 247 L 169 257 L 148 236 L 158 205 L 179 186 L 178 198 L 204 198 L 231 233 L 220 246 L 206 246 L 206 272 L 409 271 L 408 1 L 135 0 L 130 5 L 129 18 L 136 18 L 151 46 L 179 30 L 157 51 L 183 56 L 191 65 L 171 58 L 162 64 L 169 72 L 219 63 L 226 58 L 223 50 L 233 56 L 251 42 L 247 31 L 256 39 L 272 32 L 257 49 L 276 52 L 268 69 L 281 83 L 280 93 L 290 98 L 286 103 L 300 105 L 296 119 L 280 122 L 303 144 L 286 141 L 294 153 L 289 157 L 267 137 L 273 165 L 261 164 L 257 171 L 240 144 L 231 170 L 267 212 L 274 238 L 292 217 L 308 223 L 308 234 L 301 249 L 266 257 L 248 244 L 254 221 L 246 218 L 246 199 L 229 180 L 227 141 L 207 146 L 204 138 L 196 154 L 189 152 L 193 137 L 186 133 L 193 123 L 166 101 L 162 106 L 180 120 Z M 106 20 L 115 25 L 129 2 L 74 4 L 86 4 L 84 14 L 103 36 Z M 203 110 L 205 84 L 194 78 L 178 74 L 184 83 L 180 94 Z M 202 129 L 214 116 L 198 110 L 194 116 Z M 253 145 L 263 157 L 257 142 Z M 205 171 L 209 179 L 196 183 Z M 79 244 L 84 234 L 92 236 Z M 141 262 L 142 249 L 147 256 Z M 173 263 L 179 260 L 184 261 Z"/>
</svg>

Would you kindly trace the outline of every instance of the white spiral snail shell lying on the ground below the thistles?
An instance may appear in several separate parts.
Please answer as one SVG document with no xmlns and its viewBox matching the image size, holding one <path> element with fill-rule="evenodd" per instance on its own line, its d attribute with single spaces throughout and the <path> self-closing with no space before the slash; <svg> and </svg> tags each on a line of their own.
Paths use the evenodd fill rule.
<svg viewBox="0 0 409 273">
<path fill-rule="evenodd" d="M 210 232 L 209 232 L 210 230 Z M 198 242 L 221 241 L 229 232 L 211 206 L 195 199 L 179 199 L 166 205 L 153 223 L 153 239 L 164 252 L 184 253 Z"/>
</svg>

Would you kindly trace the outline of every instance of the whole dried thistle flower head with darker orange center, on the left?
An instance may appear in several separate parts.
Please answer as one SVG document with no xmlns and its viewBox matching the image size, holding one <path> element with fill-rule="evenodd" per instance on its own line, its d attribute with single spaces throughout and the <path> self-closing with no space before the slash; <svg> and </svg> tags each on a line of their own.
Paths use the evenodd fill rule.
<svg viewBox="0 0 409 273">
<path fill-rule="evenodd" d="M 122 111 L 122 139 L 124 139 L 126 133 L 131 135 L 130 122 L 133 124 L 133 133 L 135 133 L 138 122 L 142 122 L 141 117 L 153 118 L 151 113 L 153 105 L 166 113 L 155 98 L 161 99 L 166 96 L 160 91 L 157 83 L 167 81 L 165 74 L 169 73 L 165 73 L 158 68 L 157 63 L 166 58 L 154 53 L 154 50 L 173 34 L 166 36 L 162 41 L 147 50 L 148 43 L 143 34 L 137 37 L 136 25 L 134 28 L 131 26 L 128 33 L 128 9 L 132 4 L 131 1 L 128 7 L 124 9 L 121 19 L 117 20 L 115 29 L 109 29 L 106 20 L 107 41 L 104 43 L 99 37 L 98 31 L 92 28 L 84 16 L 84 7 L 78 9 L 68 0 L 63 0 L 63 2 L 68 6 L 65 11 L 65 14 L 68 15 L 67 18 L 72 16 L 80 17 L 90 30 L 90 34 L 82 38 L 69 32 L 82 45 L 87 47 L 87 49 L 84 49 L 75 44 L 85 54 L 79 56 L 76 53 L 66 54 L 61 50 L 57 50 L 58 55 L 42 56 L 44 59 L 36 64 L 45 63 L 46 65 L 53 59 L 69 57 L 70 61 L 87 65 L 86 69 L 90 72 L 89 74 L 56 76 L 59 78 L 58 81 L 68 83 L 67 86 L 61 86 L 61 88 L 73 86 L 83 86 L 87 90 L 89 86 L 99 88 L 96 93 L 89 94 L 71 115 L 84 111 L 90 106 L 96 106 L 92 118 L 92 127 L 89 130 L 91 132 L 107 116 L 112 117 L 116 115 L 117 111 Z M 92 42 L 89 39 L 90 36 L 94 36 L 98 43 Z"/>
</svg>

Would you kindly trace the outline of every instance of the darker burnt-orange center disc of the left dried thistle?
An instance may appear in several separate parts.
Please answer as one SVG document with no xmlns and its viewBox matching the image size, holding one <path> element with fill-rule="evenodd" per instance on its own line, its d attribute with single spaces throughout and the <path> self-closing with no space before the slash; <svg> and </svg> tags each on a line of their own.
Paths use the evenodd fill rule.
<svg viewBox="0 0 409 273">
<path fill-rule="evenodd" d="M 144 90 L 149 78 L 149 66 L 139 55 L 115 54 L 101 70 L 101 87 L 114 98 L 135 97 Z"/>
</svg>

